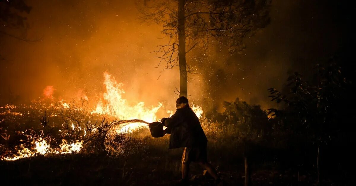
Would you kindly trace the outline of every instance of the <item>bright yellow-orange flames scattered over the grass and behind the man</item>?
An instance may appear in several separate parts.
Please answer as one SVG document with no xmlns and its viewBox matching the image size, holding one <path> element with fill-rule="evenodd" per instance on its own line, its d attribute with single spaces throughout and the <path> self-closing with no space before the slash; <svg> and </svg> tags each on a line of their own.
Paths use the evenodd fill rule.
<svg viewBox="0 0 356 186">
<path fill-rule="evenodd" d="M 104 85 L 106 90 L 103 94 L 103 97 L 101 98 L 101 100 L 99 100 L 99 102 L 95 104 L 95 107 L 93 109 L 89 108 L 89 111 L 91 110 L 91 114 L 107 115 L 118 120 L 140 119 L 148 123 L 156 122 L 160 119 L 157 117 L 157 112 L 159 111 L 159 109 L 164 109 L 163 103 L 158 102 L 156 106 L 146 106 L 144 102 L 130 103 L 122 97 L 125 94 L 124 89 L 122 89 L 123 84 L 117 83 L 115 77 L 112 77 L 112 75 L 107 72 L 104 73 Z M 73 102 L 67 103 L 65 100 L 54 101 L 54 90 L 55 89 L 53 88 L 53 86 L 46 86 L 46 88 L 43 90 L 43 95 L 45 96 L 45 98 L 51 99 L 50 105 L 54 108 L 52 113 L 48 114 L 49 117 L 57 117 L 58 115 L 55 112 L 58 112 L 58 110 L 70 110 L 73 108 L 74 105 Z M 84 94 L 82 90 L 78 91 L 77 96 L 80 96 L 83 100 L 88 101 L 88 97 Z M 14 105 L 6 105 L 5 107 L 0 108 L 5 110 L 5 112 L 0 112 L 0 115 L 12 114 L 24 117 L 22 113 L 14 111 L 14 109 L 17 109 L 17 107 Z M 29 108 L 34 109 L 39 114 L 43 113 L 41 107 L 36 106 L 36 104 L 30 105 Z M 195 105 L 194 103 L 191 104 L 191 108 L 197 115 L 197 117 L 200 118 L 203 114 L 203 109 Z M 166 112 L 167 114 L 169 114 L 169 117 L 171 117 L 174 113 L 174 111 L 171 110 L 166 110 Z M 30 111 L 28 111 L 28 114 L 29 113 Z M 90 121 L 88 122 L 88 124 L 90 124 Z M 64 125 L 62 124 L 62 126 Z M 147 124 L 145 123 L 130 123 L 124 126 L 120 126 L 119 129 L 116 128 L 116 132 L 131 133 L 133 130 L 140 129 L 145 126 L 147 126 Z M 79 131 L 82 131 L 82 128 L 80 128 L 80 126 L 74 125 L 72 121 L 69 124 L 69 129 L 72 129 L 73 131 L 77 129 Z M 94 133 L 97 132 L 97 128 L 94 125 L 91 127 L 88 126 L 88 128 L 84 127 L 84 137 L 88 135 L 87 132 L 89 132 L 89 130 Z M 59 129 L 58 131 L 62 132 L 61 129 Z M 2 157 L 1 160 L 17 160 L 20 158 L 32 157 L 40 154 L 46 155 L 49 153 L 64 154 L 79 152 L 83 146 L 83 140 L 77 140 L 75 142 L 68 143 L 67 140 L 62 139 L 62 144 L 59 145 L 60 148 L 51 148 L 48 141 L 42 139 L 41 137 L 38 137 L 31 142 L 30 146 L 31 147 L 21 144 L 18 146 L 17 149 L 19 150 L 14 153 L 13 157 Z"/>
</svg>

